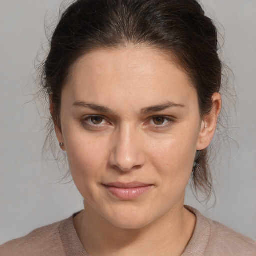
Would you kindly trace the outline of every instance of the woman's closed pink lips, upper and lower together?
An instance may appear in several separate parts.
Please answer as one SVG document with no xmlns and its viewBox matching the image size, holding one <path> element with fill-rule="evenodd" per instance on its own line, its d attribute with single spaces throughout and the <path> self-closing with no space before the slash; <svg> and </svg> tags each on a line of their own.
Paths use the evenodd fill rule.
<svg viewBox="0 0 256 256">
<path fill-rule="evenodd" d="M 111 195 L 121 200 L 133 200 L 146 193 L 152 188 L 152 186 L 152 184 L 145 184 L 136 181 L 129 183 L 112 182 L 104 184 L 104 187 Z"/>
</svg>

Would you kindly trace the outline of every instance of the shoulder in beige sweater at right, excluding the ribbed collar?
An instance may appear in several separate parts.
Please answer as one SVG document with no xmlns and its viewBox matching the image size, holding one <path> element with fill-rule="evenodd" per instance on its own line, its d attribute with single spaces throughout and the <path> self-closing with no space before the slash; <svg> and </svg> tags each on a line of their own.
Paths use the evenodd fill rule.
<svg viewBox="0 0 256 256">
<path fill-rule="evenodd" d="M 218 251 L 221 253 L 223 251 L 226 251 L 226 253 L 232 252 L 232 255 L 256 255 L 256 242 L 254 240 L 217 221 L 211 219 L 207 219 L 207 221 L 210 225 L 207 249 L 214 248 L 216 255 L 219 255 Z"/>
</svg>

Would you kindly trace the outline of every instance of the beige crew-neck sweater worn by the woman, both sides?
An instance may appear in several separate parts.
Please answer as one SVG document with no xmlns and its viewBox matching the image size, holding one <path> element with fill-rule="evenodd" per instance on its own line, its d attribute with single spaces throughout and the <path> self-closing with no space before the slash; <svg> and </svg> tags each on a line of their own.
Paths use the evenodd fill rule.
<svg viewBox="0 0 256 256">
<path fill-rule="evenodd" d="M 255 256 L 256 242 L 234 230 L 205 218 L 196 209 L 192 238 L 181 256 Z M 0 245 L 0 256 L 89 256 L 73 224 L 73 216 L 40 227 L 28 235 Z M 171 255 L 171 252 L 170 252 Z"/>
</svg>

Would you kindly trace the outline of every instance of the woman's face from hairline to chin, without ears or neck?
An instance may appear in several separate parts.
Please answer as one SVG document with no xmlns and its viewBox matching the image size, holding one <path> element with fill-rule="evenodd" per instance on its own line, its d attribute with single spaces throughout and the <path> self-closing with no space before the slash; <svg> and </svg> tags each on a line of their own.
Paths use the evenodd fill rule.
<svg viewBox="0 0 256 256">
<path fill-rule="evenodd" d="M 206 147 L 202 121 L 187 75 L 156 49 L 81 57 L 60 116 L 56 134 L 85 211 L 139 228 L 183 207 L 196 149 Z"/>
</svg>

